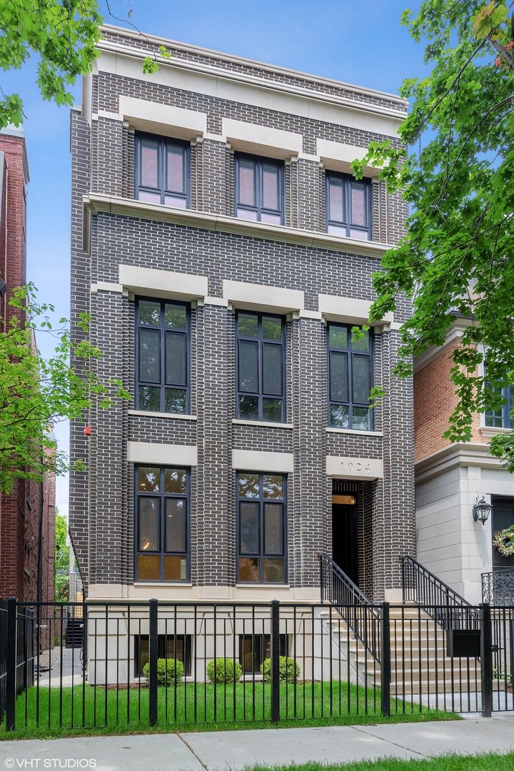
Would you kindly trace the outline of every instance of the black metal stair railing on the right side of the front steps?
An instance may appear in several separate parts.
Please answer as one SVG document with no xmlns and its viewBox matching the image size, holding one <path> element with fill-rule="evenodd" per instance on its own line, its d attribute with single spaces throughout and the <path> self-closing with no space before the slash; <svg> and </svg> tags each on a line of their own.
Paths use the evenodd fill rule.
<svg viewBox="0 0 514 771">
<path fill-rule="evenodd" d="M 401 557 L 402 591 L 404 602 L 415 602 L 435 619 L 439 625 L 449 628 L 467 628 L 477 625 L 478 614 L 471 604 L 429 571 L 414 557 Z M 448 608 L 440 618 L 438 608 Z"/>
</svg>

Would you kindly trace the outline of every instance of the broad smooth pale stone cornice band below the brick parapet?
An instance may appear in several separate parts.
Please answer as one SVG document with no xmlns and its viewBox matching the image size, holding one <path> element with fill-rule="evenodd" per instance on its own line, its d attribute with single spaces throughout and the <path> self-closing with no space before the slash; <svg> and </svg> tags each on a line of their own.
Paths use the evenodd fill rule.
<svg viewBox="0 0 514 771">
<path fill-rule="evenodd" d="M 348 96 L 327 94 L 173 56 L 170 59 L 157 56 L 159 71 L 143 75 L 143 60 L 152 52 L 106 40 L 99 42 L 98 48 L 101 56 L 95 59 L 94 74 L 112 72 L 385 136 L 398 136 L 398 127 L 407 117 L 405 109 L 359 102 Z M 86 118 L 89 120 L 89 116 Z"/>
</svg>

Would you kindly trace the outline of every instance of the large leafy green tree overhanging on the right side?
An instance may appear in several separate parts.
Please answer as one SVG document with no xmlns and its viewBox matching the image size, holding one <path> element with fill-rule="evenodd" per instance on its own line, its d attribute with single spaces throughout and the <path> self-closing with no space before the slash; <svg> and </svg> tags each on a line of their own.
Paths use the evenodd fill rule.
<svg viewBox="0 0 514 771">
<path fill-rule="evenodd" d="M 442 345 L 464 319 L 452 353 L 458 406 L 445 436 L 465 442 L 473 414 L 499 409 L 502 386 L 514 382 L 514 20 L 501 0 L 425 0 L 401 23 L 425 39 L 432 69 L 403 83 L 412 107 L 398 142 L 371 143 L 353 163 L 358 177 L 381 167 L 411 211 L 407 235 L 375 274 L 370 320 L 394 310 L 398 293 L 412 298 L 395 369 L 406 375 L 413 355 Z M 491 453 L 514 471 L 514 432 L 492 439 Z"/>
</svg>

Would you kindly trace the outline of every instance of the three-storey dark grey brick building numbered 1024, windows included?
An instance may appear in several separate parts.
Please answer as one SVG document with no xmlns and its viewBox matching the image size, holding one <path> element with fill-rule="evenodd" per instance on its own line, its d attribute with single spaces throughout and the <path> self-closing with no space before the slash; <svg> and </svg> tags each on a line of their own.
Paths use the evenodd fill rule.
<svg viewBox="0 0 514 771">
<path fill-rule="evenodd" d="M 72 319 L 92 315 L 99 374 L 133 401 L 72 424 L 87 597 L 317 601 L 328 553 L 401 599 L 408 302 L 351 327 L 407 212 L 350 164 L 405 100 L 113 26 L 99 54 L 72 110 Z"/>
</svg>

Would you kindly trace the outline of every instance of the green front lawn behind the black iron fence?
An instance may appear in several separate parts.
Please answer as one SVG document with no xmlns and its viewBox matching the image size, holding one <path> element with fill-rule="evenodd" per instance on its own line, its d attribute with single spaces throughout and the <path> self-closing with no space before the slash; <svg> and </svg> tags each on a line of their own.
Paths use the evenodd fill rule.
<svg viewBox="0 0 514 771">
<path fill-rule="evenodd" d="M 16 730 L 0 726 L 0 739 L 76 734 L 198 731 L 270 727 L 270 685 L 193 683 L 158 689 L 157 726 L 150 728 L 148 689 L 28 689 L 16 702 Z M 392 718 L 381 715 L 380 692 L 345 682 L 281 684 L 281 722 L 286 726 L 457 719 L 391 699 Z"/>
</svg>

